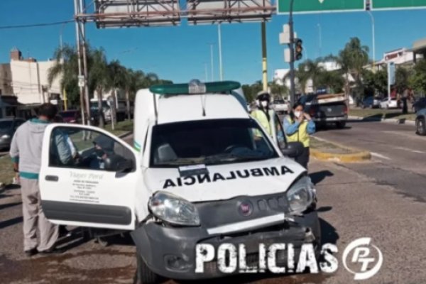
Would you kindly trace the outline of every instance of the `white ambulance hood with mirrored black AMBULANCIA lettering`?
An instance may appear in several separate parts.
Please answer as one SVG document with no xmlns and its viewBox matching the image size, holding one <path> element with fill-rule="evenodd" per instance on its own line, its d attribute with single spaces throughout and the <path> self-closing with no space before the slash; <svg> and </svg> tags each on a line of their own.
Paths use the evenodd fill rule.
<svg viewBox="0 0 426 284">
<path fill-rule="evenodd" d="M 247 195 L 285 192 L 306 172 L 286 157 L 249 163 L 207 165 L 208 173 L 180 175 L 178 168 L 148 168 L 143 172 L 149 195 L 158 190 L 178 195 L 190 202 L 228 200 Z"/>
</svg>

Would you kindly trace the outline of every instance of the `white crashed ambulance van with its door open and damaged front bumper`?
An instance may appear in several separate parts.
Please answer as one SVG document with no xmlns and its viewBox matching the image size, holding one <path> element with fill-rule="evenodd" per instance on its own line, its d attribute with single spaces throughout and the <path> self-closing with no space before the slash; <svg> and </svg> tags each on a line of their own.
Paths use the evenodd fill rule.
<svg viewBox="0 0 426 284">
<path fill-rule="evenodd" d="M 217 258 L 195 273 L 195 247 L 258 244 L 320 247 L 315 189 L 291 157 L 283 127 L 266 135 L 251 118 L 238 82 L 157 85 L 138 91 L 134 145 L 92 126 L 45 131 L 40 192 L 55 224 L 131 231 L 142 283 L 224 275 Z M 69 136 L 74 159 L 55 141 Z M 285 263 L 287 253 L 277 256 Z"/>
</svg>

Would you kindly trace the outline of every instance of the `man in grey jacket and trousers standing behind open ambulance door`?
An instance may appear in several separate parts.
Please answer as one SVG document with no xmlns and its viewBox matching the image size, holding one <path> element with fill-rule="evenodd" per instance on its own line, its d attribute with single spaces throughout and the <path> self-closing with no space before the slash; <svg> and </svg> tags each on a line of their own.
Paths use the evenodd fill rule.
<svg viewBox="0 0 426 284">
<path fill-rule="evenodd" d="M 58 113 L 53 104 L 42 104 L 38 118 L 22 124 L 15 132 L 11 142 L 10 155 L 13 170 L 18 173 L 21 183 L 23 211 L 23 250 L 26 256 L 35 253 L 61 253 L 55 249 L 58 239 L 58 225 L 46 219 L 40 204 L 38 175 L 41 165 L 41 152 L 45 129 Z M 56 145 L 67 148 L 65 139 Z M 39 235 L 38 235 L 39 234 Z"/>
</svg>

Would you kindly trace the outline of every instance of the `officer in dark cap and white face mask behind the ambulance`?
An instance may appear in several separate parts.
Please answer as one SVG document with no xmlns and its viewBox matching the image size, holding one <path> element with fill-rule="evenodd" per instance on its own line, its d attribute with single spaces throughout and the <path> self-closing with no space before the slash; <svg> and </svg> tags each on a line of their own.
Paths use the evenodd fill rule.
<svg viewBox="0 0 426 284">
<path fill-rule="evenodd" d="M 258 92 L 256 104 L 258 109 L 251 112 L 253 119 L 256 119 L 259 124 L 266 130 L 269 136 L 273 136 L 273 119 L 275 119 L 275 111 L 269 109 L 271 98 L 266 91 Z"/>
</svg>

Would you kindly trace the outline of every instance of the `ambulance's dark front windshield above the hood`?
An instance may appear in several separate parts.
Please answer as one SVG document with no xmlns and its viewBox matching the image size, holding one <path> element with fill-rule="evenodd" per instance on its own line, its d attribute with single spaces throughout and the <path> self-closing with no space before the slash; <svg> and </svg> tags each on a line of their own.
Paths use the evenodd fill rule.
<svg viewBox="0 0 426 284">
<path fill-rule="evenodd" d="M 153 127 L 151 167 L 219 165 L 276 158 L 278 154 L 251 119 L 212 119 Z"/>
</svg>

